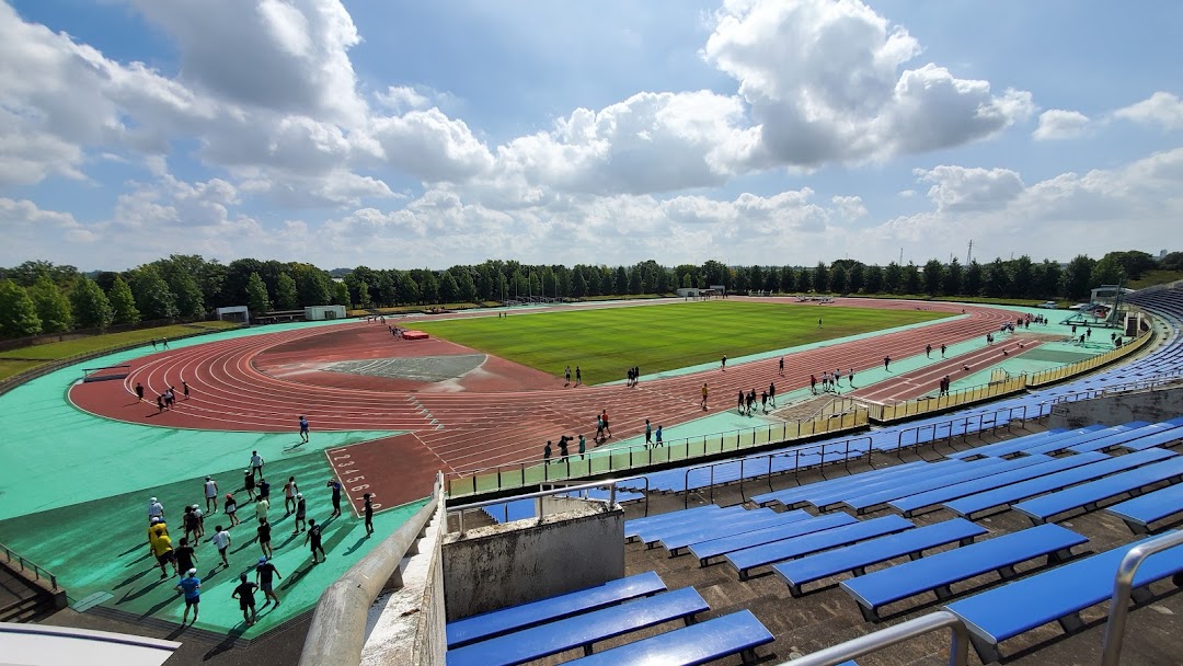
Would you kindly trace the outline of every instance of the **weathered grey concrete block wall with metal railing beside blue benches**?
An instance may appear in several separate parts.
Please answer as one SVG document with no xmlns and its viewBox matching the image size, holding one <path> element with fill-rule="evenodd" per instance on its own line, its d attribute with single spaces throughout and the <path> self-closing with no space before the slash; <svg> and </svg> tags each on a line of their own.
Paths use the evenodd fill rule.
<svg viewBox="0 0 1183 666">
<path fill-rule="evenodd" d="M 563 513 L 444 537 L 447 620 L 597 586 L 625 575 L 625 512 L 577 499 Z"/>
</svg>

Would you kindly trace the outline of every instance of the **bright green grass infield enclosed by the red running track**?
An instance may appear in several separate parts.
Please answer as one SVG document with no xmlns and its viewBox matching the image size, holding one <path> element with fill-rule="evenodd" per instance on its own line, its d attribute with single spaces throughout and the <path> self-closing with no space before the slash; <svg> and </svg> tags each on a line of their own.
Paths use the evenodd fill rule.
<svg viewBox="0 0 1183 666">
<path fill-rule="evenodd" d="M 552 375 L 578 364 L 586 383 L 603 383 L 625 379 L 632 366 L 653 374 L 718 361 L 724 354 L 737 358 L 946 316 L 707 300 L 424 322 L 415 328 Z M 821 329 L 817 317 L 823 318 Z"/>
</svg>

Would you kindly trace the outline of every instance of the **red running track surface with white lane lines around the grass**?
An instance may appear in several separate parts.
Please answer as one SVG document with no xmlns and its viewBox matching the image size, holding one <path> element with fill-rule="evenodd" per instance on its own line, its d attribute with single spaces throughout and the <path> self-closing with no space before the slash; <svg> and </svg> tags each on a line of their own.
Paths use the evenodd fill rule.
<svg viewBox="0 0 1183 666">
<path fill-rule="evenodd" d="M 913 302 L 839 299 L 838 305 L 843 304 L 917 308 Z M 786 357 L 783 376 L 772 360 L 729 366 L 726 371 L 715 369 L 648 381 L 642 377 L 635 388 L 564 388 L 560 377 L 493 357 L 479 370 L 440 384 L 319 369 L 345 358 L 477 354 L 439 340 L 394 341 L 386 326 L 358 322 L 153 354 L 131 361 L 123 390 L 117 390 L 115 382 L 77 384 L 71 399 L 96 414 L 154 426 L 295 432 L 297 416 L 305 414 L 313 438 L 317 431 L 412 431 L 416 438 L 399 438 L 397 454 L 384 457 L 384 468 L 380 468 L 377 459 L 371 460 L 374 470 L 367 474 L 371 484 L 382 486 L 380 492 L 387 498 L 409 492 L 413 499 L 427 494 L 440 468 L 467 471 L 538 460 L 548 439 L 557 439 L 561 433 L 592 434 L 601 409 L 612 416 L 616 438 L 633 437 L 642 432 L 645 419 L 670 426 L 702 416 L 704 382 L 711 390 L 710 413 L 715 413 L 729 409 L 741 389 L 761 390 L 776 382 L 778 392 L 786 393 L 808 386 L 810 374 L 835 368 L 843 374 L 849 368 L 865 370 L 881 366 L 885 355 L 897 360 L 916 356 L 923 354 L 925 344 L 939 348 L 984 336 L 1015 317 L 1002 310 L 952 304 L 923 308 L 965 311 L 969 317 L 796 353 Z M 408 321 L 415 319 L 399 323 Z M 192 387 L 192 397 L 179 401 L 172 412 L 157 415 L 155 406 L 129 400 L 136 382 L 155 397 L 168 386 L 180 387 L 182 379 Z"/>
</svg>

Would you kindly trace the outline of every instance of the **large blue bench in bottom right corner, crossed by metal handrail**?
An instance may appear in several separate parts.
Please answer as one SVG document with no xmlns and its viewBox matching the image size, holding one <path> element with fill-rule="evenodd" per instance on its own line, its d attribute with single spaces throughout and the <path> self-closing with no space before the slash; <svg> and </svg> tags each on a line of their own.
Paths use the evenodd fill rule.
<svg viewBox="0 0 1183 666">
<path fill-rule="evenodd" d="M 1078 613 L 1110 597 L 1118 564 L 1138 543 L 1142 542 L 955 601 L 945 609 L 965 622 L 983 662 L 1001 661 L 998 644 L 1035 627 L 1059 621 L 1065 632 L 1079 629 L 1082 623 Z M 1146 600 L 1139 588 L 1179 571 L 1183 571 L 1183 545 L 1151 555 L 1133 577 L 1134 601 Z"/>
</svg>

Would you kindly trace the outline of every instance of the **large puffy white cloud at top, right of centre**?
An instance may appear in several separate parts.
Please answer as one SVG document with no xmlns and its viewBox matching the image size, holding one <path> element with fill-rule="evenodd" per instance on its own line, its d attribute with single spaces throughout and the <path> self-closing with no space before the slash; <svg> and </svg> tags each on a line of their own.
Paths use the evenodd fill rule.
<svg viewBox="0 0 1183 666">
<path fill-rule="evenodd" d="M 856 0 L 728 0 L 703 56 L 739 82 L 761 134 L 754 167 L 883 160 L 985 138 L 1033 111 L 920 54 L 900 26 Z M 901 71 L 903 70 L 903 71 Z"/>
</svg>

